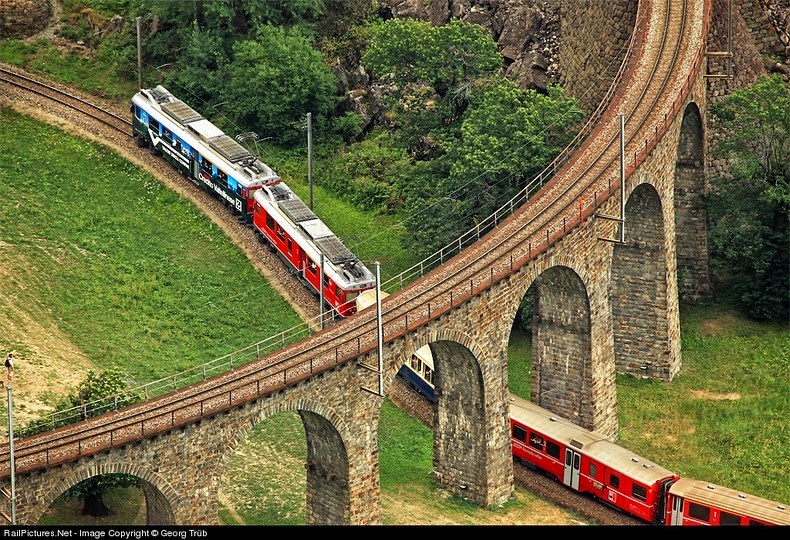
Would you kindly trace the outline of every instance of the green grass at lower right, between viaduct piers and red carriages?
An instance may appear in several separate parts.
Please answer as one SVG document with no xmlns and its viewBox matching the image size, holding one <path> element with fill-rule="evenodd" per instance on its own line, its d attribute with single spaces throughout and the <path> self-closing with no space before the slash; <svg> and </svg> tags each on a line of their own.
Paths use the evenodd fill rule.
<svg viewBox="0 0 790 540">
<path fill-rule="evenodd" d="M 618 376 L 621 444 L 682 476 L 790 501 L 790 332 L 723 305 L 681 312 L 681 372 Z"/>
</svg>

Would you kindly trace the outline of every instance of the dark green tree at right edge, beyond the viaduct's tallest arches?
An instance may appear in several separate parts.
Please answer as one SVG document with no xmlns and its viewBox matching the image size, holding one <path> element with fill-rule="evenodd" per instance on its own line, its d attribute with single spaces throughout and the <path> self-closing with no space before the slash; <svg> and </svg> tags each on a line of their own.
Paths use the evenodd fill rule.
<svg viewBox="0 0 790 540">
<path fill-rule="evenodd" d="M 708 193 L 711 263 L 751 317 L 790 319 L 790 93 L 761 77 L 714 106 L 728 174 Z"/>
</svg>

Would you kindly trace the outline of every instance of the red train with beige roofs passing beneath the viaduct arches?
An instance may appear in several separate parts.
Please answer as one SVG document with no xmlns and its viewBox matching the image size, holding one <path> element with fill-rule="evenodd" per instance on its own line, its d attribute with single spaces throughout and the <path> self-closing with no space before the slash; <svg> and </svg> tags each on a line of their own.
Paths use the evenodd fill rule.
<svg viewBox="0 0 790 540">
<path fill-rule="evenodd" d="M 434 399 L 426 345 L 398 375 Z M 784 504 L 710 482 L 681 478 L 516 395 L 510 395 L 513 457 L 569 489 L 655 525 L 790 525 Z"/>
</svg>

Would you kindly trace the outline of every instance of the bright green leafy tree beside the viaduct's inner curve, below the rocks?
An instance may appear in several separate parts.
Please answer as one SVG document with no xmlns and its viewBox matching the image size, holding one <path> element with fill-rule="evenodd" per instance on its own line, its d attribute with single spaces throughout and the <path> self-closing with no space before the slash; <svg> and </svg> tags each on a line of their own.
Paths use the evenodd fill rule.
<svg viewBox="0 0 790 540">
<path fill-rule="evenodd" d="M 415 175 L 424 189 L 411 199 L 412 249 L 433 253 L 498 210 L 569 142 L 582 116 L 557 87 L 544 95 L 503 77 L 478 84 L 459 128 L 439 141 L 431 176 Z"/>
</svg>

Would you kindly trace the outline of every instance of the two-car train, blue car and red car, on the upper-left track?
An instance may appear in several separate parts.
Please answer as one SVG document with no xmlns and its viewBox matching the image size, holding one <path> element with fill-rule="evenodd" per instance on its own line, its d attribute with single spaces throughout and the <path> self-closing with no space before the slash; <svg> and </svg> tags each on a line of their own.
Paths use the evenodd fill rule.
<svg viewBox="0 0 790 540">
<path fill-rule="evenodd" d="M 337 315 L 356 312 L 373 273 L 257 156 L 163 86 L 132 98 L 138 146 L 222 200 Z"/>
</svg>

